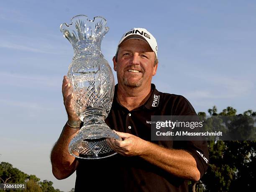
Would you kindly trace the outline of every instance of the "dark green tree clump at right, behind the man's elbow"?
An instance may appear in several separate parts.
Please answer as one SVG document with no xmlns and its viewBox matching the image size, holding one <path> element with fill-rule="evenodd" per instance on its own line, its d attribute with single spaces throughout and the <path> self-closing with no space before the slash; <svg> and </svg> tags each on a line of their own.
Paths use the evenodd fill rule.
<svg viewBox="0 0 256 192">
<path fill-rule="evenodd" d="M 212 116 L 227 116 L 227 118 L 220 118 L 217 124 L 221 126 L 224 124 L 230 131 L 229 134 L 233 131 L 238 135 L 245 134 L 246 138 L 255 134 L 255 117 L 253 119 L 251 116 L 256 115 L 256 112 L 247 110 L 243 115 L 239 114 L 234 118 L 236 112 L 232 107 L 227 107 L 220 113 L 217 113 L 216 106 L 208 110 Z M 204 118 L 206 114 L 200 112 L 198 115 Z M 211 124 L 209 125 L 210 128 Z M 220 129 L 223 128 L 221 126 Z M 256 141 L 208 141 L 207 143 L 210 156 L 209 167 L 202 179 L 197 182 L 196 191 L 253 191 L 253 182 L 256 179 Z"/>
</svg>

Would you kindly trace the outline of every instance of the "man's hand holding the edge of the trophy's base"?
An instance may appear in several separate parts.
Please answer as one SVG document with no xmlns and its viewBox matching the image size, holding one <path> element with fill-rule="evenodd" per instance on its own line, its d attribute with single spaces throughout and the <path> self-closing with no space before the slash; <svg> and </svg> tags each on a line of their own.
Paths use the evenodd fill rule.
<svg viewBox="0 0 256 192">
<path fill-rule="evenodd" d="M 123 141 L 107 138 L 106 141 L 114 151 L 123 156 L 140 156 L 146 149 L 147 141 L 130 133 L 115 131 Z"/>
</svg>

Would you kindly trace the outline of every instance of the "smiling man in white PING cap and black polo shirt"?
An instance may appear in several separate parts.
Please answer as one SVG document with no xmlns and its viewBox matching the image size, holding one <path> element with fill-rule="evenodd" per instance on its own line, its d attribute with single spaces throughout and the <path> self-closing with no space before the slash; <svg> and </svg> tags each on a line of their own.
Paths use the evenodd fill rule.
<svg viewBox="0 0 256 192">
<path fill-rule="evenodd" d="M 68 122 L 51 153 L 54 176 L 64 179 L 77 170 L 76 191 L 188 191 L 187 180 L 198 181 L 207 169 L 202 158 L 208 159 L 207 144 L 151 141 L 151 115 L 196 115 L 184 97 L 158 92 L 151 84 L 158 66 L 156 39 L 146 29 L 131 29 L 121 38 L 113 62 L 118 84 L 105 121 L 123 140 L 107 139 L 118 154 L 96 160 L 69 155 L 68 144 L 79 131 L 80 121 L 64 77 Z"/>
</svg>

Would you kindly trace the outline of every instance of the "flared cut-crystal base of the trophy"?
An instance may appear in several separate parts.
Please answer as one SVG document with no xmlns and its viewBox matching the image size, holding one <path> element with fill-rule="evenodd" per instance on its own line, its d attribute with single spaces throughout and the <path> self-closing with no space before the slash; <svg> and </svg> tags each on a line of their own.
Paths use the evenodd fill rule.
<svg viewBox="0 0 256 192">
<path fill-rule="evenodd" d="M 69 153 L 80 159 L 101 159 L 117 154 L 106 138 L 122 140 L 107 124 L 85 125 L 69 144 Z"/>
</svg>

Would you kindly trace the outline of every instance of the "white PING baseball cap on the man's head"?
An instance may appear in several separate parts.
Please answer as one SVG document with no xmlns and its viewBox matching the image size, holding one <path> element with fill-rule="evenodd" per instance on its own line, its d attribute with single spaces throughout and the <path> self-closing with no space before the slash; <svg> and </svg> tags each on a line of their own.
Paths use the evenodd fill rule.
<svg viewBox="0 0 256 192">
<path fill-rule="evenodd" d="M 125 41 L 127 41 L 131 38 L 137 38 L 137 39 L 141 39 L 141 40 L 147 42 L 148 45 L 151 47 L 151 49 L 155 52 L 156 58 L 157 58 L 156 39 L 146 29 L 144 29 L 144 28 L 132 28 L 132 29 L 130 29 L 129 31 L 127 31 L 126 33 L 123 34 L 121 40 L 118 43 L 118 47 L 120 46 L 121 43 L 123 43 L 123 42 L 125 42 Z"/>
</svg>

